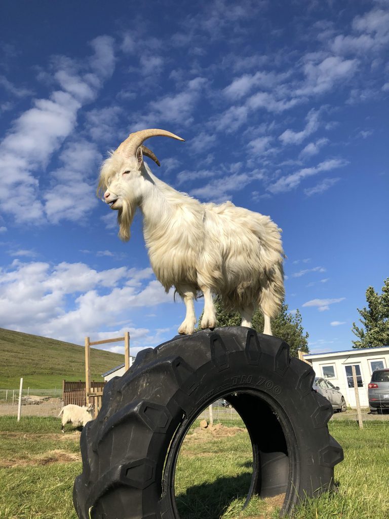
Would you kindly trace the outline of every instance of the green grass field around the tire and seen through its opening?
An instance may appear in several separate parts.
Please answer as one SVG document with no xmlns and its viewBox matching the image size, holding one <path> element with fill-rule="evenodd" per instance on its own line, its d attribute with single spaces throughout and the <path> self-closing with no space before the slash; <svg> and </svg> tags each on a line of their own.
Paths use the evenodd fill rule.
<svg viewBox="0 0 389 519">
<path fill-rule="evenodd" d="M 73 482 L 81 471 L 79 432 L 56 418 L 0 417 L 0 517 L 76 519 Z M 359 430 L 330 424 L 344 448 L 335 470 L 337 494 L 305 502 L 296 519 L 387 519 L 389 442 L 386 428 Z M 251 446 L 245 431 L 220 435 L 191 431 L 176 470 L 176 501 L 182 519 L 275 519 L 282 500 L 254 498 L 242 504 L 251 477 Z"/>
</svg>

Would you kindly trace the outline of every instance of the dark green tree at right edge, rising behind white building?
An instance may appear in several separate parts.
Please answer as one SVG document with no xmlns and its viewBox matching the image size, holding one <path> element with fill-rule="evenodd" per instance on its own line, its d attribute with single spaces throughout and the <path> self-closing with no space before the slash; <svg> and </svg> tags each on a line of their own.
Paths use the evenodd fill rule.
<svg viewBox="0 0 389 519">
<path fill-rule="evenodd" d="M 357 308 L 363 327 L 353 323 L 352 331 L 359 338 L 353 340 L 353 348 L 375 348 L 389 345 L 389 278 L 384 281 L 382 294 L 372 286 L 366 290 L 366 306 Z"/>
</svg>

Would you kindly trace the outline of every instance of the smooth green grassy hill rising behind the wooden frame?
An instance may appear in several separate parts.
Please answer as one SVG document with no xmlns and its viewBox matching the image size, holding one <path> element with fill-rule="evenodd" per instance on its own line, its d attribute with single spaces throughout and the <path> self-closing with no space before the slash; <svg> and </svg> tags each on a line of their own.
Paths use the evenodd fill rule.
<svg viewBox="0 0 389 519">
<path fill-rule="evenodd" d="M 124 363 L 124 355 L 91 348 L 91 380 Z M 85 380 L 85 348 L 62 340 L 0 328 L 0 388 L 62 389 L 62 380 Z M 30 391 L 31 392 L 31 391 Z"/>
</svg>

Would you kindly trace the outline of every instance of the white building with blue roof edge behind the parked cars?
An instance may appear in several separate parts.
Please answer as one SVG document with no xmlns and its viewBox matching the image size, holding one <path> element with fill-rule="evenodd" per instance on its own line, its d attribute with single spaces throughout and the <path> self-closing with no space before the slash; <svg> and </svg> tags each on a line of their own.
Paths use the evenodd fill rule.
<svg viewBox="0 0 389 519">
<path fill-rule="evenodd" d="M 361 348 L 328 353 L 304 354 L 305 361 L 312 364 L 317 377 L 330 380 L 339 386 L 348 406 L 356 407 L 352 366 L 357 375 L 359 402 L 361 407 L 368 407 L 368 384 L 374 370 L 389 367 L 389 346 L 379 348 Z"/>
</svg>

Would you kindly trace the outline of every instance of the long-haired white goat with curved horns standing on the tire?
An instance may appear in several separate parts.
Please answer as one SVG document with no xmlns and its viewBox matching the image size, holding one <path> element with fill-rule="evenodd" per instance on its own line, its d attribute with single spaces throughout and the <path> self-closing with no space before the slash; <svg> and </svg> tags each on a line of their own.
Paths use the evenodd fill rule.
<svg viewBox="0 0 389 519">
<path fill-rule="evenodd" d="M 137 208 L 150 263 L 166 292 L 172 286 L 186 305 L 178 333 L 191 334 L 196 316 L 193 299 L 204 294 L 202 328 L 216 325 L 212 294 L 224 307 L 238 310 L 242 326 L 251 327 L 257 307 L 265 318 L 263 333 L 272 335 L 284 297 L 281 229 L 269 216 L 235 207 L 200 203 L 157 179 L 143 155 L 157 157 L 142 143 L 155 135 L 183 141 L 165 130 L 131 133 L 105 160 L 98 194 L 118 211 L 119 236 L 127 241 Z"/>
</svg>

